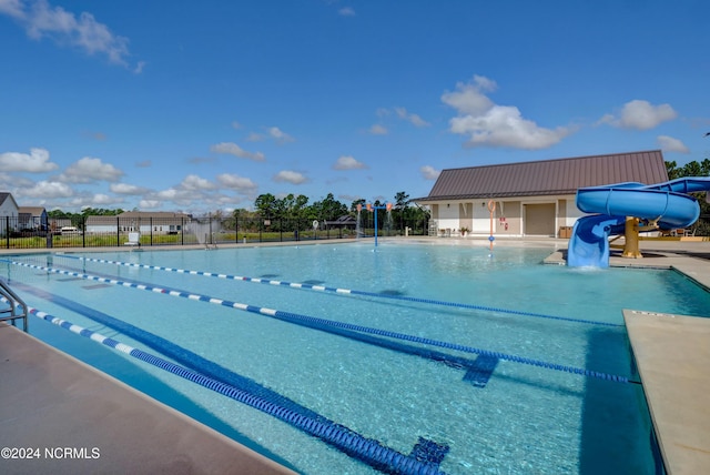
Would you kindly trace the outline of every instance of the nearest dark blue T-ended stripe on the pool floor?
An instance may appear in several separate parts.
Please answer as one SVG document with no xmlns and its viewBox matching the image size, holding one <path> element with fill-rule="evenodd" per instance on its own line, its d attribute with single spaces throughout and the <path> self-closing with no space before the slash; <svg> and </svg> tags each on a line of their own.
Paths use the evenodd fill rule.
<svg viewBox="0 0 710 475">
<path fill-rule="evenodd" d="M 367 463 L 368 465 L 371 465 L 372 467 L 378 471 L 382 471 L 385 473 L 393 473 L 393 474 L 399 474 L 399 473 L 438 474 L 440 473 L 439 465 L 443 462 L 444 456 L 446 455 L 446 453 L 448 453 L 448 449 L 449 449 L 449 447 L 445 444 L 438 444 L 434 441 L 423 439 L 422 437 L 419 437 L 419 441 L 412 449 L 410 455 L 404 455 L 393 448 L 385 446 L 379 441 L 367 438 L 342 424 L 335 423 L 328 420 L 327 417 L 290 400 L 288 397 L 281 395 L 280 393 L 273 390 L 268 390 L 267 387 L 261 385 L 260 383 L 246 376 L 242 376 L 237 373 L 234 373 L 233 371 L 227 370 L 210 360 L 206 360 L 191 352 L 187 348 L 184 348 L 161 336 L 158 336 L 153 333 L 139 329 L 134 325 L 131 325 L 128 322 L 115 319 L 105 313 L 99 312 L 94 309 L 82 305 L 78 302 L 71 301 L 60 295 L 55 295 L 44 290 L 37 289 L 29 284 L 13 282 L 13 286 L 17 286 L 18 289 L 27 293 L 30 293 L 32 295 L 36 295 L 40 299 L 43 299 L 57 305 L 60 305 L 71 312 L 83 315 L 87 319 L 90 319 L 97 323 L 100 323 L 118 332 L 121 332 L 122 334 L 138 342 L 143 343 L 148 347 L 176 361 L 181 365 L 184 365 L 197 372 L 200 375 L 207 376 L 227 386 L 252 394 L 256 397 L 260 397 L 263 401 L 266 401 L 273 405 L 281 407 L 282 410 L 287 410 L 295 413 L 296 415 L 301 415 L 302 417 L 308 417 L 314 422 L 317 422 L 320 425 L 329 426 L 329 429 L 325 431 L 325 436 L 318 436 L 318 438 L 328 443 L 329 445 L 335 446 L 336 448 L 341 449 L 345 454 L 353 456 L 359 459 L 361 462 Z M 260 407 L 256 407 L 256 408 L 260 408 Z M 266 411 L 262 411 L 262 412 L 266 412 Z M 282 421 L 288 422 L 282 416 L 280 416 L 278 408 L 273 411 L 273 414 L 271 414 L 271 412 L 266 412 L 266 413 L 272 416 L 276 416 Z M 296 424 L 291 424 L 291 425 L 296 428 L 303 429 L 302 427 L 298 427 L 298 425 Z M 343 436 L 341 437 L 343 442 L 333 441 L 333 437 L 331 437 L 331 435 L 334 432 L 343 433 Z M 316 435 L 316 434 L 311 434 L 311 435 Z M 355 441 L 355 438 L 358 438 L 358 441 Z M 368 447 L 368 451 L 366 453 L 361 453 L 361 451 L 357 451 L 358 445 L 355 445 L 356 442 L 359 443 L 358 445 L 365 445 L 366 443 L 369 443 L 371 447 Z M 388 455 L 384 457 L 377 457 L 377 458 L 382 458 L 382 459 L 377 459 L 373 456 L 373 453 L 377 449 L 379 449 L 381 452 L 386 451 L 388 452 Z M 404 468 L 406 468 L 405 471 L 392 464 L 392 462 L 395 458 L 399 458 L 397 465 L 400 465 Z"/>
</svg>

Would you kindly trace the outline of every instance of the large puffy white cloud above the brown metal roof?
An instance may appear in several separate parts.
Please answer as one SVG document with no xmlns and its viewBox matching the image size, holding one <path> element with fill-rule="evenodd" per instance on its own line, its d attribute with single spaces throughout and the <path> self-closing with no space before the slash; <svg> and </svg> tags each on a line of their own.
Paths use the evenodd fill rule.
<svg viewBox="0 0 710 475">
<path fill-rule="evenodd" d="M 455 92 L 446 92 L 442 101 L 456 109 L 458 117 L 449 120 L 449 131 L 467 135 L 466 146 L 509 146 L 514 149 L 546 149 L 571 133 L 571 129 L 546 129 L 524 119 L 514 105 L 497 105 L 485 92 L 496 83 L 476 75 L 469 83 L 456 84 Z"/>
</svg>

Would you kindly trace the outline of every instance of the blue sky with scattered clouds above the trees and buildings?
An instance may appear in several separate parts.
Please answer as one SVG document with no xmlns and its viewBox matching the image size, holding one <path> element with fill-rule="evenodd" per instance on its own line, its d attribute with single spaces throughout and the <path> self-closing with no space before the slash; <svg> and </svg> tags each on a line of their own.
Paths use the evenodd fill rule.
<svg viewBox="0 0 710 475">
<path fill-rule="evenodd" d="M 0 0 L 0 191 L 206 213 L 710 156 L 707 1 Z"/>
</svg>

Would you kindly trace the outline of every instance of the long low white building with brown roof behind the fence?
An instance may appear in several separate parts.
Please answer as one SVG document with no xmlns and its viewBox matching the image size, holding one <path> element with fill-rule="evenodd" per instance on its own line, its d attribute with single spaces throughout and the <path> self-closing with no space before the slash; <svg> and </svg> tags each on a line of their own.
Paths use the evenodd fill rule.
<svg viewBox="0 0 710 475">
<path fill-rule="evenodd" d="M 139 232 L 144 235 L 179 234 L 192 218 L 168 211 L 128 211 L 116 216 L 88 216 L 88 234 L 115 234 Z"/>
</svg>

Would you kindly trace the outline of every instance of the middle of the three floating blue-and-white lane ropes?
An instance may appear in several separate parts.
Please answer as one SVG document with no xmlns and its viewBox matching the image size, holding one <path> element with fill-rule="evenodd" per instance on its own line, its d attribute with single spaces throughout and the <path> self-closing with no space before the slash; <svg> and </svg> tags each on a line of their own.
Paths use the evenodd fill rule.
<svg viewBox="0 0 710 475">
<path fill-rule="evenodd" d="M 293 323 L 295 321 L 312 322 L 312 323 L 317 323 L 317 324 L 325 325 L 325 326 L 335 326 L 335 327 L 339 327 L 339 329 L 354 330 L 356 332 L 369 333 L 369 334 L 375 334 L 375 335 L 381 335 L 381 336 L 387 336 L 387 337 L 390 337 L 390 338 L 397 338 L 397 340 L 404 340 L 404 341 L 409 341 L 409 342 L 415 342 L 415 343 L 422 343 L 422 344 L 425 344 L 425 345 L 438 346 L 438 347 L 444 347 L 444 348 L 448 348 L 448 350 L 460 351 L 460 352 L 464 352 L 464 353 L 474 353 L 474 354 L 477 354 L 477 355 L 485 355 L 485 356 L 488 356 L 488 357 L 496 357 L 498 360 L 509 361 L 511 363 L 527 364 L 527 365 L 530 365 L 530 366 L 537 366 L 537 367 L 544 367 L 544 368 L 554 370 L 554 371 L 560 371 L 560 372 L 565 372 L 565 373 L 578 374 L 578 375 L 587 376 L 587 377 L 595 377 L 595 378 L 599 378 L 599 380 L 612 381 L 612 382 L 616 382 L 616 383 L 640 384 L 640 382 L 638 382 L 638 381 L 631 381 L 626 376 L 619 376 L 619 375 L 616 375 L 616 374 L 609 374 L 609 373 L 602 373 L 602 372 L 598 372 L 598 371 L 585 370 L 585 368 L 579 368 L 579 367 L 575 367 L 575 366 L 567 366 L 567 365 L 561 365 L 561 364 L 557 364 L 557 363 L 548 363 L 548 362 L 540 361 L 540 360 L 534 360 L 534 358 L 528 358 L 528 357 L 524 357 L 524 356 L 510 355 L 510 354 L 500 353 L 500 352 L 494 352 L 494 351 L 489 351 L 489 350 L 481 350 L 481 348 L 476 348 L 474 346 L 460 345 L 460 344 L 457 344 L 457 343 L 448 343 L 448 342 L 442 342 L 442 341 L 438 341 L 438 340 L 423 338 L 423 337 L 419 337 L 419 336 L 407 335 L 407 334 L 404 334 L 404 333 L 389 332 L 389 331 L 386 331 L 386 330 L 372 329 L 372 327 L 368 327 L 368 326 L 361 326 L 361 325 L 354 325 L 354 324 L 351 324 L 351 323 L 343 323 L 343 322 L 336 322 L 336 321 L 332 321 L 332 320 L 318 319 L 318 317 L 315 317 L 315 316 L 301 315 L 301 314 L 292 313 L 292 312 L 284 312 L 284 311 L 274 310 L 274 309 L 260 307 L 260 306 L 254 306 L 254 305 L 240 303 L 240 302 L 231 302 L 231 301 L 225 301 L 225 300 L 222 300 L 222 299 L 211 297 L 209 295 L 191 294 L 191 293 L 187 293 L 187 292 L 176 292 L 176 291 L 171 291 L 170 289 L 150 286 L 150 285 L 145 285 L 145 284 L 135 284 L 135 283 L 131 283 L 131 282 L 126 282 L 126 281 L 116 281 L 116 280 L 113 280 L 113 279 L 98 277 L 98 276 L 94 276 L 94 275 L 81 274 L 79 272 L 62 271 L 62 270 L 59 270 L 59 269 L 44 267 L 42 265 L 27 264 L 27 263 L 23 263 L 23 262 L 9 261 L 9 260 L 4 260 L 4 259 L 0 259 L 0 262 L 10 262 L 11 264 L 14 264 L 14 265 L 20 265 L 20 266 L 31 267 L 31 269 L 38 269 L 38 270 L 45 271 L 45 272 L 71 275 L 71 276 L 77 276 L 77 277 L 81 277 L 81 279 L 85 279 L 85 280 L 104 282 L 104 283 L 115 284 L 115 285 L 131 287 L 131 289 L 139 289 L 139 290 L 144 290 L 144 291 L 149 291 L 149 292 L 159 293 L 159 294 L 179 296 L 179 297 L 200 301 L 200 302 L 207 302 L 207 303 L 212 303 L 212 304 L 215 304 L 215 305 L 226 306 L 226 307 L 230 307 L 230 309 L 236 309 L 236 310 L 242 310 L 242 311 L 245 311 L 245 312 L 256 313 L 256 314 L 260 314 L 260 315 L 271 316 L 273 319 L 277 319 L 277 320 L 281 320 L 281 321 L 288 322 L 288 323 Z"/>
</svg>

